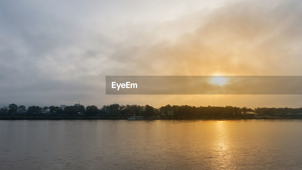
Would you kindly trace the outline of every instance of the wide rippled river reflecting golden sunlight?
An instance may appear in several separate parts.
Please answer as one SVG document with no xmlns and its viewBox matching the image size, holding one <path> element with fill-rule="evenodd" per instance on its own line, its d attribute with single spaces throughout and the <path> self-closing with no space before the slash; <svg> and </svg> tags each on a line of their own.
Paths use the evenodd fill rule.
<svg viewBox="0 0 302 170">
<path fill-rule="evenodd" d="M 302 169 L 302 120 L 0 120 L 0 169 Z"/>
</svg>

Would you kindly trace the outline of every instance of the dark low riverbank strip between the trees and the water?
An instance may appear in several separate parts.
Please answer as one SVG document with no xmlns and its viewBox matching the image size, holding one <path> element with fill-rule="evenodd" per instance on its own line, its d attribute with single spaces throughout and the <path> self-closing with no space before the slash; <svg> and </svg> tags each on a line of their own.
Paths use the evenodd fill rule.
<svg viewBox="0 0 302 170">
<path fill-rule="evenodd" d="M 125 120 L 129 117 L 71 117 L 71 116 L 0 116 L 0 120 Z M 255 119 L 252 115 L 237 115 L 237 116 L 170 116 L 170 117 L 143 117 L 144 120 L 240 120 L 240 119 Z M 262 119 L 267 119 L 262 117 Z M 284 119 L 302 119 L 302 116 L 284 116 Z"/>
</svg>

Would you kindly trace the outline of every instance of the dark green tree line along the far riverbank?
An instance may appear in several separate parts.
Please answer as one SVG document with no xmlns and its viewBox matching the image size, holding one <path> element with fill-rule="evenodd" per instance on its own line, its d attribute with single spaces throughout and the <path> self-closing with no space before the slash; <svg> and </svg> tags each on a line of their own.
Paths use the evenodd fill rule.
<svg viewBox="0 0 302 170">
<path fill-rule="evenodd" d="M 2 116 L 13 116 L 16 114 L 27 114 L 27 115 L 41 115 L 48 114 L 51 116 L 97 116 L 97 115 L 115 115 L 115 116 L 160 116 L 161 111 L 171 110 L 174 111 L 174 116 L 236 116 L 239 114 L 246 114 L 248 112 L 255 112 L 260 115 L 282 115 L 286 113 L 302 113 L 302 108 L 267 108 L 257 107 L 254 109 L 247 107 L 236 107 L 236 106 L 188 106 L 188 105 L 165 105 L 159 108 L 145 105 L 119 105 L 117 103 L 111 105 L 104 105 L 99 110 L 97 106 L 66 106 L 64 110 L 58 106 L 29 106 L 27 109 L 25 106 L 16 104 L 9 104 L 0 109 Z"/>
</svg>

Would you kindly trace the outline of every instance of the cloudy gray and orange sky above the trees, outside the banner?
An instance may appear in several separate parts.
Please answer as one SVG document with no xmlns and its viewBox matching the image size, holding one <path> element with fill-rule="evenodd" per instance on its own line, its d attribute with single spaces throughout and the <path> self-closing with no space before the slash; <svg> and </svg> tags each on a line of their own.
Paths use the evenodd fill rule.
<svg viewBox="0 0 302 170">
<path fill-rule="evenodd" d="M 298 0 L 0 1 L 0 107 L 301 107 L 301 95 L 105 94 L 114 75 L 300 76 L 300 16 Z"/>
</svg>

